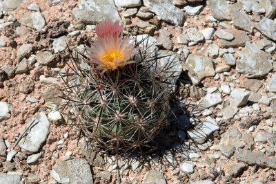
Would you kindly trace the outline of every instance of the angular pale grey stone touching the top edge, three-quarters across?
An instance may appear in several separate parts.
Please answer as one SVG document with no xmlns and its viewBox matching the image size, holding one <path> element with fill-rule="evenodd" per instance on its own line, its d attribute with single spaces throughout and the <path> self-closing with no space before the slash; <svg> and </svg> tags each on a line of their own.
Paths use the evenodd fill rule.
<svg viewBox="0 0 276 184">
<path fill-rule="evenodd" d="M 228 11 L 226 11 L 229 6 L 226 0 L 207 0 L 207 6 L 215 19 L 219 21 L 230 20 Z"/>
</svg>

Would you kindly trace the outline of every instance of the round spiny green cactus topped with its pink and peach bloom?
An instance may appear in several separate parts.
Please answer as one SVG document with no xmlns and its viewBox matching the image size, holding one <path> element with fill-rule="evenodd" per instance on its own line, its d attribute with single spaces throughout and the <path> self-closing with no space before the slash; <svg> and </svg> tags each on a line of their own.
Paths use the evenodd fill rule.
<svg viewBox="0 0 276 184">
<path fill-rule="evenodd" d="M 97 25 L 97 41 L 87 44 L 87 54 L 76 53 L 72 73 L 60 74 L 67 80 L 61 98 L 99 145 L 110 151 L 143 150 L 166 125 L 172 71 L 170 64 L 158 66 L 164 56 L 149 49 L 148 38 L 137 42 L 123 37 L 122 30 L 117 21 Z"/>
</svg>

